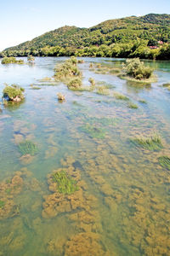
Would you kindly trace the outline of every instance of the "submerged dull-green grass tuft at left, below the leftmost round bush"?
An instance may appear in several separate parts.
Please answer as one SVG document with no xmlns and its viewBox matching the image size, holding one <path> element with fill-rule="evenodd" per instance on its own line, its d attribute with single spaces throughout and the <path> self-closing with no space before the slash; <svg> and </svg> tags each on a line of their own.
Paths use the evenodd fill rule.
<svg viewBox="0 0 170 256">
<path fill-rule="evenodd" d="M 37 153 L 38 148 L 35 143 L 32 143 L 31 141 L 24 141 L 19 144 L 19 151 L 20 154 L 25 155 L 25 154 L 31 154 L 34 155 Z"/>
</svg>

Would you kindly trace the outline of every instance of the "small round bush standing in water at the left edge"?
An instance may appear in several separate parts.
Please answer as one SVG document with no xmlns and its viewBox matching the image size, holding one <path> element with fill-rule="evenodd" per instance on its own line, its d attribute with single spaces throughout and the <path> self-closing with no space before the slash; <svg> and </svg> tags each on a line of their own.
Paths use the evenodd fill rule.
<svg viewBox="0 0 170 256">
<path fill-rule="evenodd" d="M 3 98 L 6 101 L 20 102 L 24 99 L 24 91 L 25 90 L 17 84 L 12 84 L 11 86 L 7 84 L 3 89 Z"/>
</svg>

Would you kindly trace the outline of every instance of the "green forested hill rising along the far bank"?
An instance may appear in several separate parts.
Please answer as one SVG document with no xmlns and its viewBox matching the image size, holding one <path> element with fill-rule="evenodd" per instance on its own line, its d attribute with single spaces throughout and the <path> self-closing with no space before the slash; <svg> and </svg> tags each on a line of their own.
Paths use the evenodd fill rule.
<svg viewBox="0 0 170 256">
<path fill-rule="evenodd" d="M 90 28 L 63 26 L 5 49 L 1 55 L 139 56 L 161 59 L 166 55 L 169 59 L 169 43 L 170 15 L 150 14 L 106 20 Z M 162 50 L 163 53 L 160 52 Z"/>
</svg>

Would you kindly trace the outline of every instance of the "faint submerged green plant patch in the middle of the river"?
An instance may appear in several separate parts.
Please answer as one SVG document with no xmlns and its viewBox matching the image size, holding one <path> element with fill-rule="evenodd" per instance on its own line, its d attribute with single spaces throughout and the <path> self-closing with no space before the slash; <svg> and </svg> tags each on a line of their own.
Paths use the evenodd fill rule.
<svg viewBox="0 0 170 256">
<path fill-rule="evenodd" d="M 93 125 L 82 125 L 80 130 L 87 133 L 90 137 L 105 138 L 105 131 Z"/>
</svg>

